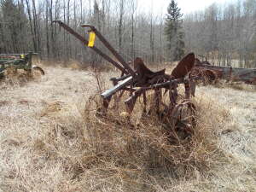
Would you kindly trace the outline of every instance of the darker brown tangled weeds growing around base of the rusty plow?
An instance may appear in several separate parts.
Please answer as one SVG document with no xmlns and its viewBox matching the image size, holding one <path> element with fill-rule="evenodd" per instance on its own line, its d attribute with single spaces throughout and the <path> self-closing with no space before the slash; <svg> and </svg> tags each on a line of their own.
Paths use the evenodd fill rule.
<svg viewBox="0 0 256 192">
<path fill-rule="evenodd" d="M 87 103 L 84 113 L 86 129 L 90 137 L 90 148 L 99 154 L 105 154 L 107 162 L 119 162 L 117 166 L 137 164 L 143 169 L 165 168 L 168 170 L 206 170 L 214 162 L 219 151 L 214 146 L 214 138 L 220 131 L 219 124 L 224 122 L 228 114 L 218 111 L 207 103 L 197 103 L 197 122 L 195 135 L 187 138 L 178 137 L 172 125 L 168 125 L 154 116 L 133 119 L 136 127 L 119 114 L 124 107 L 108 111 L 108 118 L 99 119 L 93 108 L 94 99 Z M 121 102 L 120 102 L 121 103 Z M 140 115 L 138 110 L 134 114 Z M 212 119 L 212 112 L 225 113 L 220 119 Z M 206 117 L 208 116 L 208 117 Z M 134 117 L 134 118 L 135 118 Z M 222 116 L 220 116 L 222 117 Z M 213 121 L 213 122 L 212 122 Z M 172 132 L 172 134 L 170 134 Z M 168 134 L 169 133 L 169 134 Z M 172 137 L 170 137 L 172 135 Z M 211 139 L 210 139 L 211 138 Z M 110 158 L 110 159 L 108 159 Z"/>
</svg>

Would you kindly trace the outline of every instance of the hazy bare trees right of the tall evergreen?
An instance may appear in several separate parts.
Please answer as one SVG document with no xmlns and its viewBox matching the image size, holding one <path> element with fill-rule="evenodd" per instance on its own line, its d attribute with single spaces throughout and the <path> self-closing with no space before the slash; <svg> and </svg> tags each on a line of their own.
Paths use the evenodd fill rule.
<svg viewBox="0 0 256 192">
<path fill-rule="evenodd" d="M 256 0 L 214 3 L 186 15 L 183 29 L 186 48 L 215 65 L 256 67 Z"/>
</svg>

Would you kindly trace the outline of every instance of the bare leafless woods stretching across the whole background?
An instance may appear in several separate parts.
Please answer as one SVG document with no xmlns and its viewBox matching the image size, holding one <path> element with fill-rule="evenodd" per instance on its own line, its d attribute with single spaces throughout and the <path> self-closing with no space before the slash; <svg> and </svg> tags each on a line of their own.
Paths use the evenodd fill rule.
<svg viewBox="0 0 256 192">
<path fill-rule="evenodd" d="M 162 63 L 193 51 L 217 65 L 237 62 L 239 67 L 256 67 L 256 0 L 238 0 L 223 7 L 212 4 L 183 18 L 179 12 L 178 30 L 172 28 L 169 35 L 170 6 L 161 15 L 154 15 L 153 6 L 145 14 L 137 1 L 0 0 L 0 53 L 33 50 L 54 60 L 101 62 L 85 45 L 52 24 L 52 20 L 62 20 L 86 38 L 79 24 L 96 26 L 126 61 L 141 56 Z M 99 42 L 96 46 L 105 51 Z"/>
</svg>

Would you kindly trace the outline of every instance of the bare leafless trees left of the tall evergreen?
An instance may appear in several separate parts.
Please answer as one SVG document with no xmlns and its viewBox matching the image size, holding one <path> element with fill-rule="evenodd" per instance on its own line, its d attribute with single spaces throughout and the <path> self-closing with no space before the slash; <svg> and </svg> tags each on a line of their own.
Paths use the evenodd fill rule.
<svg viewBox="0 0 256 192">
<path fill-rule="evenodd" d="M 119 50 L 125 60 L 140 55 L 164 60 L 164 20 L 140 14 L 137 0 L 0 0 L 1 53 L 33 50 L 46 58 L 95 61 L 97 56 L 53 20 L 62 20 L 87 37 L 79 25 L 89 23 Z M 96 46 L 105 50 L 102 44 Z"/>
</svg>

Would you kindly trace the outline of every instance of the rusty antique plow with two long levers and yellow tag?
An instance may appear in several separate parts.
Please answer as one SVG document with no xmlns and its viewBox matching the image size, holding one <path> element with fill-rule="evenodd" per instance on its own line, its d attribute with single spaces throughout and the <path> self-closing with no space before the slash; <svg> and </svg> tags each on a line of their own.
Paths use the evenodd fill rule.
<svg viewBox="0 0 256 192">
<path fill-rule="evenodd" d="M 90 49 L 93 49 L 99 55 L 102 55 L 104 59 L 113 64 L 113 66 L 119 68 L 121 71 L 121 77 L 110 79 L 113 82 L 113 88 L 104 91 L 102 96 L 102 107 L 98 108 L 97 114 L 105 116 L 108 111 L 109 103 L 111 99 L 114 102 L 119 102 L 122 96 L 128 96 L 125 99 L 126 112 L 131 114 L 137 98 L 143 96 L 143 112 L 147 110 L 147 92 L 151 90 L 154 92 L 154 109 L 155 112 L 160 114 L 160 108 L 164 108 L 164 114 L 172 117 L 173 119 L 180 119 L 183 115 L 183 111 L 189 111 L 189 114 L 184 119 L 194 119 L 195 105 L 190 102 L 190 95 L 195 96 L 195 83 L 196 78 L 189 78 L 188 73 L 194 67 L 195 55 L 190 53 L 186 55 L 182 61 L 177 64 L 171 74 L 166 74 L 166 69 L 158 72 L 153 72 L 145 66 L 143 60 L 139 57 L 133 62 L 134 67 L 131 68 L 119 53 L 113 49 L 113 46 L 108 43 L 107 39 L 104 38 L 101 32 L 96 30 L 96 27 L 90 25 L 82 25 L 82 27 L 88 27 L 90 29 L 90 35 L 92 33 L 93 38 L 90 37 L 89 41 L 74 32 L 72 28 L 67 26 L 61 20 L 55 20 L 63 27 L 67 32 L 71 33 L 75 38 L 78 38 L 83 44 L 89 45 Z M 117 61 L 113 61 L 111 57 L 102 53 L 100 49 L 91 44 L 91 39 L 95 40 L 98 38 L 102 44 L 104 44 L 108 50 L 113 54 Z M 92 45 L 92 46 L 91 46 Z M 183 84 L 185 88 L 185 94 L 182 101 L 178 100 L 178 85 Z M 165 90 L 165 92 L 163 91 Z M 127 92 L 128 94 L 125 94 Z M 163 94 L 168 92 L 169 103 L 162 102 Z M 193 117 L 192 117 L 193 116 Z M 193 122 L 195 121 L 192 120 Z M 190 122 L 191 123 L 191 122 Z M 189 127 L 189 125 L 188 125 Z"/>
</svg>

